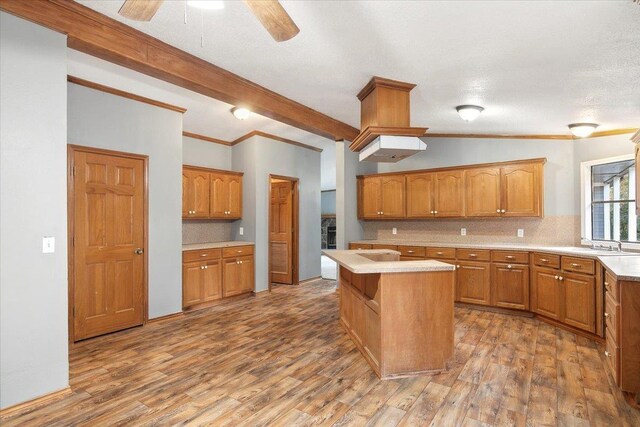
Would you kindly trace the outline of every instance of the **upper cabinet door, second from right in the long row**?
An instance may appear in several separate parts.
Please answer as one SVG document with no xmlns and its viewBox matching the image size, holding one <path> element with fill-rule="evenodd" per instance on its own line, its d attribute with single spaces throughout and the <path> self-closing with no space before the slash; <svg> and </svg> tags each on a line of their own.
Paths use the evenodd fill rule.
<svg viewBox="0 0 640 427">
<path fill-rule="evenodd" d="M 500 169 L 466 170 L 465 202 L 467 216 L 499 216 Z"/>
</svg>

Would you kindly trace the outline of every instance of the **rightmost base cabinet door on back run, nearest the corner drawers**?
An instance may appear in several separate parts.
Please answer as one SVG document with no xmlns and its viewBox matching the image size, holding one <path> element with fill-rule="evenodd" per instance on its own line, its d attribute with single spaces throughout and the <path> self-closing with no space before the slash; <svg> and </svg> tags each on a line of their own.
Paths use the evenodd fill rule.
<svg viewBox="0 0 640 427">
<path fill-rule="evenodd" d="M 596 281 L 581 274 L 561 274 L 564 285 L 563 322 L 585 331 L 596 331 Z"/>
</svg>

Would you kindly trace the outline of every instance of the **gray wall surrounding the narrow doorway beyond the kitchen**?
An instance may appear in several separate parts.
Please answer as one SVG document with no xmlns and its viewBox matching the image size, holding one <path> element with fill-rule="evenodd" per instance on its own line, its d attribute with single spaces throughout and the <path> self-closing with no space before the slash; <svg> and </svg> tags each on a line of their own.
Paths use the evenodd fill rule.
<svg viewBox="0 0 640 427">
<path fill-rule="evenodd" d="M 243 218 L 234 237 L 256 244 L 256 291 L 269 285 L 269 174 L 299 179 L 299 278 L 320 276 L 320 153 L 255 136 L 234 146 L 232 159 L 233 170 L 245 173 Z"/>
</svg>

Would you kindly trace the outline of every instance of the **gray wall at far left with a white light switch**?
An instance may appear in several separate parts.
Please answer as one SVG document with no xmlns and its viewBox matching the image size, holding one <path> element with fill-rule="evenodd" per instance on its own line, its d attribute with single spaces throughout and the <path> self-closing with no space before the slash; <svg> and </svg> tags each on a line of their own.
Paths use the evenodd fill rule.
<svg viewBox="0 0 640 427">
<path fill-rule="evenodd" d="M 0 13 L 0 408 L 69 384 L 66 46 Z"/>
</svg>

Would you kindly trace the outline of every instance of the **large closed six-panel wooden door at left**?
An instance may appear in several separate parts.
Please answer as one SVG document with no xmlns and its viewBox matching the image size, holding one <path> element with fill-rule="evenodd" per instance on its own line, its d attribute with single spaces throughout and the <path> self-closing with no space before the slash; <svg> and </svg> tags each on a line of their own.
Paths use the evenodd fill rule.
<svg viewBox="0 0 640 427">
<path fill-rule="evenodd" d="M 145 161 L 73 154 L 75 341 L 144 322 Z"/>
</svg>

